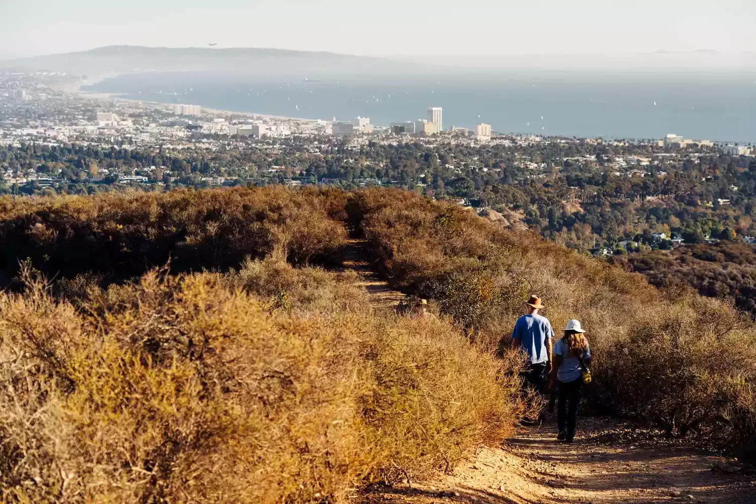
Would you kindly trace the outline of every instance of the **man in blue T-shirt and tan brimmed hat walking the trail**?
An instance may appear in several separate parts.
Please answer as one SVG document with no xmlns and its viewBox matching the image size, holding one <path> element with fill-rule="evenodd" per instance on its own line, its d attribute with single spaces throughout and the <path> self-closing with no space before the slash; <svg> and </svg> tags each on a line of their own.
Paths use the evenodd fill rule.
<svg viewBox="0 0 756 504">
<path fill-rule="evenodd" d="M 523 373 L 525 382 L 539 394 L 544 394 L 551 372 L 551 323 L 538 310 L 544 308 L 541 298 L 531 295 L 526 303 L 530 313 L 517 319 L 512 332 L 512 346 L 526 354 L 528 363 Z"/>
</svg>

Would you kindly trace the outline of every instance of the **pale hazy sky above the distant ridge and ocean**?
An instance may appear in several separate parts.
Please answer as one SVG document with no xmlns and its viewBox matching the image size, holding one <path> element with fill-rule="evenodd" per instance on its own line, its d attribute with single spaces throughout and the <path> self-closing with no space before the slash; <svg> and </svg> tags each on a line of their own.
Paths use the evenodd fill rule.
<svg viewBox="0 0 756 504">
<path fill-rule="evenodd" d="M 0 0 L 0 57 L 209 42 L 366 55 L 756 51 L 756 0 Z"/>
</svg>

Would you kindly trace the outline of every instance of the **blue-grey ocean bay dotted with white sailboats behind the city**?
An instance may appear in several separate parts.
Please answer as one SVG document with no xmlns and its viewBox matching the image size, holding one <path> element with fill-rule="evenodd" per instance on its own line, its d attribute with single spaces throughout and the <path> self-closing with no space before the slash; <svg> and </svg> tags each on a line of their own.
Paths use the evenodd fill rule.
<svg viewBox="0 0 756 504">
<path fill-rule="evenodd" d="M 756 141 L 756 72 L 439 70 L 432 76 L 253 79 L 138 73 L 84 88 L 164 103 L 305 119 L 370 117 L 373 125 L 425 119 L 488 123 L 500 133 L 603 138 Z"/>
</svg>

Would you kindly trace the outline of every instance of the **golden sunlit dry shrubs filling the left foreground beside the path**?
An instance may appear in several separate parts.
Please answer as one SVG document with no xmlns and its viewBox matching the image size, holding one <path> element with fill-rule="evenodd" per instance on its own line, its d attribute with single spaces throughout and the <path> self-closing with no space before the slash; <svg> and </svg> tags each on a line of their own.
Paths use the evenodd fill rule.
<svg viewBox="0 0 756 504">
<path fill-rule="evenodd" d="M 78 309 L 35 280 L 0 294 L 0 500 L 339 500 L 507 434 L 516 365 L 442 320 L 301 317 L 246 292 L 281 272 L 276 289 L 342 288 L 287 268 L 153 271 Z M 303 314 L 314 302 L 292 298 Z"/>
</svg>

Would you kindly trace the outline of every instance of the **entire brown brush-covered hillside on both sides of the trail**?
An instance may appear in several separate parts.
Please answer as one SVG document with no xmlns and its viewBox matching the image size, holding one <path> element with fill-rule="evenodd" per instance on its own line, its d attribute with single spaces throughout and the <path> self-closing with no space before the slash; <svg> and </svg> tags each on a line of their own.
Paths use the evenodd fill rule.
<svg viewBox="0 0 756 504">
<path fill-rule="evenodd" d="M 588 330 L 586 412 L 756 455 L 752 320 L 416 193 L 5 197 L 0 241 L 3 502 L 345 502 L 497 463 L 532 292 Z"/>
</svg>

